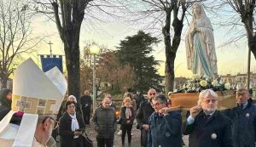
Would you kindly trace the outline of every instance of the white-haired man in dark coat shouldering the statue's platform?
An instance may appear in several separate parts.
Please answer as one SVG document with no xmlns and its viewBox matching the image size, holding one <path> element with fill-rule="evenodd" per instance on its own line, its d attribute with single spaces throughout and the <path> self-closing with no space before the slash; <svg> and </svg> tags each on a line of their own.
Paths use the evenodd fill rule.
<svg viewBox="0 0 256 147">
<path fill-rule="evenodd" d="M 190 109 L 183 123 L 183 134 L 189 134 L 189 147 L 233 147 L 231 121 L 217 110 L 218 94 L 206 89 L 198 104 Z"/>
</svg>

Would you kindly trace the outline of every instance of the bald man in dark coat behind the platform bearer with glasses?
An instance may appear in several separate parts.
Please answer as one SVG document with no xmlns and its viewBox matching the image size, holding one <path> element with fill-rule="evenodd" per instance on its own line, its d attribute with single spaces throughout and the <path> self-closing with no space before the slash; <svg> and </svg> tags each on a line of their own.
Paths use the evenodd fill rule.
<svg viewBox="0 0 256 147">
<path fill-rule="evenodd" d="M 151 105 L 151 100 L 155 97 L 156 91 L 154 88 L 148 90 L 148 97 L 143 101 L 137 110 L 137 127 L 141 130 L 141 146 L 147 147 L 148 144 L 148 118 L 154 112 Z"/>
</svg>

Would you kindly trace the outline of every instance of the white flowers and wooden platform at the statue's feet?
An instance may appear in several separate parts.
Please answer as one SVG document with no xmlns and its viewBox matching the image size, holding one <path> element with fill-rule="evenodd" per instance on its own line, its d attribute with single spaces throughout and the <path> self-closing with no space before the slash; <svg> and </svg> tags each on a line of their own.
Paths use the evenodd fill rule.
<svg viewBox="0 0 256 147">
<path fill-rule="evenodd" d="M 218 109 L 236 106 L 236 93 L 231 88 L 230 82 L 224 82 L 221 77 L 212 79 L 207 76 L 195 76 L 174 90 L 171 95 L 172 106 L 181 106 L 184 110 L 189 110 L 197 105 L 199 93 L 208 88 L 218 93 Z"/>
</svg>

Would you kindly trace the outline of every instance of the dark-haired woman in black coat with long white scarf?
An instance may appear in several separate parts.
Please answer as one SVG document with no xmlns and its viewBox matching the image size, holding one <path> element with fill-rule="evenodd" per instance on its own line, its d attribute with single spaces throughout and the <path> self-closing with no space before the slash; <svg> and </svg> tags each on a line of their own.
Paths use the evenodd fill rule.
<svg viewBox="0 0 256 147">
<path fill-rule="evenodd" d="M 67 101 L 66 112 L 60 118 L 59 134 L 61 136 L 61 147 L 82 147 L 82 133 L 85 125 L 82 116 L 76 113 L 76 103 Z"/>
</svg>

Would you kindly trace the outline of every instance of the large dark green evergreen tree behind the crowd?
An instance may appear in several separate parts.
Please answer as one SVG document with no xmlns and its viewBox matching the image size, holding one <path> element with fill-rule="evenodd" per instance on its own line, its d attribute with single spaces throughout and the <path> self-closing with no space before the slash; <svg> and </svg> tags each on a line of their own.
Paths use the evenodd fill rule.
<svg viewBox="0 0 256 147">
<path fill-rule="evenodd" d="M 136 35 L 125 37 L 119 43 L 117 56 L 120 63 L 130 64 L 135 72 L 135 86 L 143 92 L 149 88 L 160 89 L 160 75 L 157 73 L 156 66 L 159 62 L 151 55 L 154 44 L 160 42 L 158 38 L 151 37 L 143 31 L 138 31 Z"/>
</svg>

